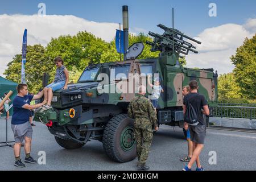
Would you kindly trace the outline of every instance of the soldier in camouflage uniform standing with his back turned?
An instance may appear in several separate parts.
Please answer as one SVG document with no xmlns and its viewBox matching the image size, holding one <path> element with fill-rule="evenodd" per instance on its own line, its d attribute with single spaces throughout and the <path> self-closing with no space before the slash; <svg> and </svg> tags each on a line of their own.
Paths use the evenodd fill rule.
<svg viewBox="0 0 256 182">
<path fill-rule="evenodd" d="M 128 115 L 134 119 L 134 137 L 137 142 L 137 156 L 138 164 L 137 168 L 140 170 L 148 170 L 146 166 L 146 160 L 150 150 L 153 131 L 158 130 L 157 119 L 155 110 L 148 98 L 144 97 L 146 93 L 146 87 L 139 87 L 139 96 L 131 100 L 128 106 Z"/>
</svg>

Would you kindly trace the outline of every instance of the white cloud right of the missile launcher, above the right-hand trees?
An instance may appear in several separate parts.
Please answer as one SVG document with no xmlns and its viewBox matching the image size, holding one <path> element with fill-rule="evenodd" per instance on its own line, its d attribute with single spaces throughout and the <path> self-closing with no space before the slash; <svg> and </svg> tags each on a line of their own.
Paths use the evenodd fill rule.
<svg viewBox="0 0 256 182">
<path fill-rule="evenodd" d="M 205 29 L 195 38 L 202 43 L 195 43 L 198 54 L 189 53 L 186 57 L 187 67 L 213 68 L 218 73 L 232 72 L 234 65 L 230 57 L 246 37 L 251 38 L 255 34 L 255 29 L 256 19 L 249 19 L 244 25 L 229 23 Z"/>
</svg>

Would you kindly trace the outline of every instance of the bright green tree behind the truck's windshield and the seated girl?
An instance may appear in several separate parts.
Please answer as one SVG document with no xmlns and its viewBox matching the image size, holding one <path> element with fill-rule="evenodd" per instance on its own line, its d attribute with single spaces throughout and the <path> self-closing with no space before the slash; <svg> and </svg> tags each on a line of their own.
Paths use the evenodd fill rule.
<svg viewBox="0 0 256 182">
<path fill-rule="evenodd" d="M 110 45 L 89 32 L 79 32 L 76 36 L 59 36 L 46 47 L 46 56 L 53 60 L 61 56 L 65 67 L 71 70 L 74 66 L 82 71 L 88 64 L 102 63 L 101 56 Z"/>
</svg>

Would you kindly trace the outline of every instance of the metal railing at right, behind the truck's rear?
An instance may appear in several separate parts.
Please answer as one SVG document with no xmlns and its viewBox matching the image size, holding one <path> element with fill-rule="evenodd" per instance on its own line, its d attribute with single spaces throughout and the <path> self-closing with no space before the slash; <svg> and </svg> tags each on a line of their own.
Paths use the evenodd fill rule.
<svg viewBox="0 0 256 182">
<path fill-rule="evenodd" d="M 232 105 L 232 106 L 231 106 Z M 239 104 L 218 105 L 210 107 L 210 116 L 221 118 L 247 118 L 256 119 L 256 107 L 238 106 Z M 243 104 L 241 104 L 243 105 Z"/>
</svg>

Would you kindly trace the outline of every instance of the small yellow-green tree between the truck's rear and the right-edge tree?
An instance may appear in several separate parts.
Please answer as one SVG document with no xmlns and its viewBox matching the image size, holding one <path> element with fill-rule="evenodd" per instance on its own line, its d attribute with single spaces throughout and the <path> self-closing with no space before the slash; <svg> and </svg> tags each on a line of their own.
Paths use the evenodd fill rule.
<svg viewBox="0 0 256 182">
<path fill-rule="evenodd" d="M 241 97 L 241 89 L 234 78 L 234 73 L 223 74 L 218 77 L 219 100 L 233 100 Z"/>
</svg>

